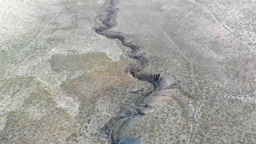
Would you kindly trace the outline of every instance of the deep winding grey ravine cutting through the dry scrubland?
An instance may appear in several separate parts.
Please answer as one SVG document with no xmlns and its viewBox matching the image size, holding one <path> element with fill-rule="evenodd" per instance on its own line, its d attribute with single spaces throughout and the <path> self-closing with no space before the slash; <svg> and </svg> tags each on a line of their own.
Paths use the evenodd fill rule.
<svg viewBox="0 0 256 144">
<path fill-rule="evenodd" d="M 153 84 L 153 89 L 148 89 L 147 92 L 142 94 L 141 100 L 136 102 L 136 106 L 133 106 L 132 112 L 127 114 L 125 111 L 121 112 L 119 116 L 115 119 L 115 122 L 112 127 L 107 125 L 106 133 L 109 134 L 110 142 L 120 143 L 120 137 L 115 136 L 115 129 L 120 126 L 120 123 L 127 123 L 131 120 L 133 115 L 143 115 L 143 112 L 139 110 L 139 106 L 143 104 L 143 100 L 150 95 L 153 91 L 160 91 L 166 88 L 182 88 L 178 82 L 174 81 L 174 79 L 168 75 L 167 73 L 150 73 L 150 74 L 139 74 L 138 72 L 143 70 L 148 65 L 147 57 L 143 53 L 139 53 L 139 45 L 132 43 L 127 40 L 127 35 L 121 32 L 113 32 L 110 28 L 113 28 L 117 25 L 117 21 L 115 20 L 117 17 L 118 8 L 117 1 L 115 0 L 106 0 L 103 5 L 102 12 L 96 17 L 96 27 L 95 32 L 97 34 L 104 35 L 110 39 L 118 39 L 121 41 L 126 47 L 130 47 L 131 51 L 127 52 L 127 56 L 129 58 L 135 59 L 136 64 L 127 65 L 126 71 L 129 72 L 133 77 L 141 81 L 147 81 Z M 186 91 L 185 91 L 186 92 Z M 122 122 L 120 122 L 122 121 Z M 124 141 L 123 141 L 124 142 Z M 126 141 L 127 143 L 127 141 Z M 129 143 L 129 142 L 128 142 Z"/>
</svg>

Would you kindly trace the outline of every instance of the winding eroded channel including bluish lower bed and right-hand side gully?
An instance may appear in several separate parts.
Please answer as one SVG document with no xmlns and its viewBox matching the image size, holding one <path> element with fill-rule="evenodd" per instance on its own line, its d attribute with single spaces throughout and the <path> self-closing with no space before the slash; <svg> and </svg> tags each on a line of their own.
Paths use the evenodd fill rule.
<svg viewBox="0 0 256 144">
<path fill-rule="evenodd" d="M 185 88 L 181 83 L 175 81 L 173 77 L 165 72 L 161 73 L 145 73 L 142 70 L 147 67 L 148 60 L 145 53 L 140 53 L 139 45 L 132 43 L 127 37 L 132 37 L 132 35 L 126 35 L 121 32 L 114 32 L 111 30 L 114 26 L 117 25 L 115 20 L 117 17 L 118 8 L 116 5 L 118 1 L 106 0 L 102 7 L 101 13 L 96 17 L 96 27 L 95 32 L 101 35 L 104 35 L 110 39 L 118 39 L 121 44 L 126 47 L 130 47 L 131 51 L 126 52 L 126 56 L 134 59 L 136 64 L 129 64 L 125 69 L 126 72 L 130 73 L 133 77 L 141 81 L 147 81 L 152 83 L 154 88 L 148 89 L 146 92 L 142 93 L 142 98 L 137 101 L 136 104 L 133 104 L 129 109 L 123 110 L 119 113 L 118 117 L 112 118 L 108 124 L 105 125 L 102 130 L 109 135 L 110 142 L 115 143 L 140 143 L 139 139 L 133 138 L 127 134 L 124 127 L 132 127 L 133 121 L 138 117 L 144 115 L 143 108 L 149 107 L 144 103 L 144 99 L 149 95 L 152 95 L 154 91 L 162 91 L 164 89 L 177 88 L 187 95 L 191 95 L 187 88 Z M 179 98 L 178 98 L 179 99 Z M 180 103 L 183 103 L 183 106 L 188 105 L 188 101 L 184 99 L 179 99 Z M 186 109 L 187 118 L 189 121 L 194 120 L 193 112 L 189 109 Z"/>
</svg>

